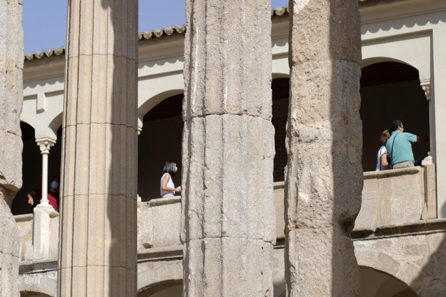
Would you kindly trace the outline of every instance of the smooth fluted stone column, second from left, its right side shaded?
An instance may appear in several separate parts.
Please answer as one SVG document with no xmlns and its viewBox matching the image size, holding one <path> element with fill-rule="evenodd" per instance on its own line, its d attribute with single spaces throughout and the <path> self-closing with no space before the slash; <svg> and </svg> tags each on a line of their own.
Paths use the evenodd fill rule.
<svg viewBox="0 0 446 297">
<path fill-rule="evenodd" d="M 137 0 L 69 1 L 59 296 L 136 296 Z"/>
</svg>

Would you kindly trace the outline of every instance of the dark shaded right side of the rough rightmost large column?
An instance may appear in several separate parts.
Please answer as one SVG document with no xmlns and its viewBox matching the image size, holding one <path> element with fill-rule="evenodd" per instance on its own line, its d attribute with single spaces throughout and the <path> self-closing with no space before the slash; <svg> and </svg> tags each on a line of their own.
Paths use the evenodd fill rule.
<svg viewBox="0 0 446 297">
<path fill-rule="evenodd" d="M 324 3 L 330 6 L 329 59 L 333 63 L 329 89 L 333 202 L 326 202 L 333 203 L 333 212 L 326 213 L 332 216 L 333 232 L 327 233 L 331 236 L 331 294 L 327 295 L 352 297 L 359 295 L 360 278 L 351 233 L 361 208 L 364 182 L 359 115 L 361 69 L 358 65 L 361 59 L 361 16 L 356 0 Z M 321 55 L 324 59 L 323 49 Z M 319 92 L 326 99 L 326 91 Z M 330 158 L 327 161 L 330 163 Z M 331 180 L 322 182 L 327 184 L 330 193 Z"/>
</svg>

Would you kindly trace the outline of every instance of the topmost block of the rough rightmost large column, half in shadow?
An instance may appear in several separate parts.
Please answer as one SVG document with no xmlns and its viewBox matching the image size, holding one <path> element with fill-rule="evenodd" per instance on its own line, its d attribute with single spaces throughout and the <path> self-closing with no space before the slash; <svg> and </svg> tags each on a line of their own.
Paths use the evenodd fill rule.
<svg viewBox="0 0 446 297">
<path fill-rule="evenodd" d="M 327 59 L 361 60 L 357 1 L 293 0 L 289 5 L 293 65 Z"/>
</svg>

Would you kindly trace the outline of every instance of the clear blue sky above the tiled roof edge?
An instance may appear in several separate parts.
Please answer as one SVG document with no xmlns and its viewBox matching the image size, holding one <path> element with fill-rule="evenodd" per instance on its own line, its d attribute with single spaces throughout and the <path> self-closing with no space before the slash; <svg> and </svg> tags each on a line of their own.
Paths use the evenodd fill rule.
<svg viewBox="0 0 446 297">
<path fill-rule="evenodd" d="M 24 52 L 65 45 L 68 0 L 23 0 Z M 288 0 L 271 0 L 271 7 Z M 150 31 L 185 23 L 185 0 L 139 0 L 139 30 Z"/>
</svg>

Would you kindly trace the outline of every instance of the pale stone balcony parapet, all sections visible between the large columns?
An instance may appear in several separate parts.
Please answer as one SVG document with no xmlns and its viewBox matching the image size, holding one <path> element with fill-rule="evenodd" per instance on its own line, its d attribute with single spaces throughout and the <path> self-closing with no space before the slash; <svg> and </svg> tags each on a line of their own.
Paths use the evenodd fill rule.
<svg viewBox="0 0 446 297">
<path fill-rule="evenodd" d="M 435 164 L 391 171 L 364 173 L 362 208 L 355 231 L 374 231 L 380 226 L 405 224 L 436 218 Z M 276 234 L 285 237 L 284 182 L 274 183 Z M 179 247 L 181 197 L 166 197 L 138 202 L 138 251 Z M 20 230 L 20 261 L 57 259 L 59 215 L 50 215 L 49 252 L 34 259 L 33 235 L 42 233 L 34 215 L 17 215 Z"/>
</svg>

